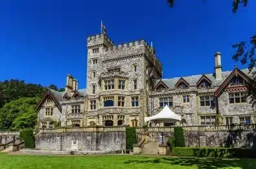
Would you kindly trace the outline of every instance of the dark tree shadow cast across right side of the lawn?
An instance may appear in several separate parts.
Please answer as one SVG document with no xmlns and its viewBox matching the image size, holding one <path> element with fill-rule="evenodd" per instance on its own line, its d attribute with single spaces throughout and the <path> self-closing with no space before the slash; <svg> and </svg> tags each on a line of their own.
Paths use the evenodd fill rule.
<svg viewBox="0 0 256 169">
<path fill-rule="evenodd" d="M 157 158 L 148 160 L 125 161 L 128 163 L 165 163 L 180 166 L 197 166 L 198 169 L 232 168 L 240 167 L 242 169 L 255 169 L 256 163 L 249 159 L 218 159 L 218 158 L 199 158 L 199 157 L 181 157 L 181 158 Z"/>
</svg>

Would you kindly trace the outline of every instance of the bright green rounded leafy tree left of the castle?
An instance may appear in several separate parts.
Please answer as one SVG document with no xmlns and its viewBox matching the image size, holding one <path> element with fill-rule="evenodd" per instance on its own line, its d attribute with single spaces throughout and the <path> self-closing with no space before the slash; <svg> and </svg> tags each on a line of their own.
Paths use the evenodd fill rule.
<svg viewBox="0 0 256 169">
<path fill-rule="evenodd" d="M 34 128 L 37 121 L 35 107 L 39 100 L 38 97 L 19 98 L 5 104 L 0 109 L 0 128 L 8 130 Z"/>
</svg>

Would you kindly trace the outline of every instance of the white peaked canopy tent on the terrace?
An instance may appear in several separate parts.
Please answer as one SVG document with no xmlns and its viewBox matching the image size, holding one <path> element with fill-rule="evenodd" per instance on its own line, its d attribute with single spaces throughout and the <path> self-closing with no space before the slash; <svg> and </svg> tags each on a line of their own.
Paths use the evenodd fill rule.
<svg viewBox="0 0 256 169">
<path fill-rule="evenodd" d="M 180 122 L 181 116 L 176 115 L 167 105 L 156 115 L 152 117 L 145 117 L 145 122 L 155 120 L 155 121 L 168 121 L 168 122 Z"/>
</svg>

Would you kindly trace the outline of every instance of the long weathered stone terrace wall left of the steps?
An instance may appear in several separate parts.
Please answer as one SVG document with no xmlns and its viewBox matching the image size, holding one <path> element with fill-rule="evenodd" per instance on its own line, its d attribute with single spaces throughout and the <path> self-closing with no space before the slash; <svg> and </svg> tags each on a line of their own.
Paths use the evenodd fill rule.
<svg viewBox="0 0 256 169">
<path fill-rule="evenodd" d="M 41 133 L 35 138 L 36 148 L 40 150 L 71 149 L 71 142 L 78 141 L 81 151 L 93 150 L 125 150 L 125 132 L 66 132 Z"/>
</svg>

